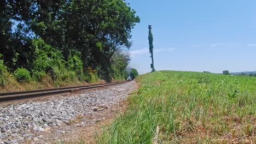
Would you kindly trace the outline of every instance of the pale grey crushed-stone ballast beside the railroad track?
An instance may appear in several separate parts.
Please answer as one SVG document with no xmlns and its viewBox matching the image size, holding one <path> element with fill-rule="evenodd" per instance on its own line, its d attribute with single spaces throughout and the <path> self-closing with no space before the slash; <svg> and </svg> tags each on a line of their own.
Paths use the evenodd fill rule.
<svg viewBox="0 0 256 144">
<path fill-rule="evenodd" d="M 44 133 L 44 128 L 53 130 L 49 127 L 59 127 L 60 133 L 62 133 L 61 128 L 69 121 L 74 120 L 77 116 L 90 115 L 90 113 L 95 113 L 99 109 L 108 109 L 111 105 L 126 98 L 127 94 L 135 87 L 136 83 L 132 81 L 117 86 L 73 94 L 69 97 L 51 97 L 44 101 L 1 105 L 0 139 L 4 143 L 11 143 L 8 140 L 9 138 L 16 140 L 15 137 L 22 136 L 22 139 L 17 139 L 18 143 L 28 139 L 36 141 L 38 138 L 35 136 L 39 135 L 39 132 L 41 132 L 40 134 Z M 94 121 L 85 118 L 82 120 L 81 125 L 84 126 L 89 121 Z M 95 121 L 101 120 L 96 119 Z"/>
</svg>

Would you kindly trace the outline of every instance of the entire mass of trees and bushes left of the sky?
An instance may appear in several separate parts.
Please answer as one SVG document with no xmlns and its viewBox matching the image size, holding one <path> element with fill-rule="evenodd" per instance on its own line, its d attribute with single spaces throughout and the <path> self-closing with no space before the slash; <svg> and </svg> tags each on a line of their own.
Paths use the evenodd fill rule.
<svg viewBox="0 0 256 144">
<path fill-rule="evenodd" d="M 124 79 L 138 22 L 123 0 L 1 1 L 1 63 L 19 81 Z"/>
</svg>

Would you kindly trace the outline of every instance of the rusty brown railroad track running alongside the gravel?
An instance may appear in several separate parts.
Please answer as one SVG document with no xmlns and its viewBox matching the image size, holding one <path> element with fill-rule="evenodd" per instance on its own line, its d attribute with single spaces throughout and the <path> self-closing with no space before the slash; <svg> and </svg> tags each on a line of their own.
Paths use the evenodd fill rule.
<svg viewBox="0 0 256 144">
<path fill-rule="evenodd" d="M 96 84 L 90 86 L 75 86 L 75 87 L 61 87 L 61 88 L 50 88 L 50 89 L 38 89 L 33 91 L 20 91 L 20 92 L 4 92 L 0 93 L 0 104 L 8 103 L 10 101 L 24 100 L 28 98 L 41 98 L 56 94 L 74 93 L 85 89 L 98 88 L 104 86 L 118 85 L 121 82 L 110 82 L 104 84 Z"/>
</svg>

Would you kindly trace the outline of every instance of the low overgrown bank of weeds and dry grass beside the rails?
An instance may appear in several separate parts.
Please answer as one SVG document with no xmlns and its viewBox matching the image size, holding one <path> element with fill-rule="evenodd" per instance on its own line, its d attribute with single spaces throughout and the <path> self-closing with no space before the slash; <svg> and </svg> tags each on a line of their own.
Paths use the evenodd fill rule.
<svg viewBox="0 0 256 144">
<path fill-rule="evenodd" d="M 45 69 L 51 67 L 51 71 L 39 70 L 40 68 L 28 71 L 25 68 L 18 68 L 13 73 L 4 65 L 3 60 L 0 60 L 0 92 L 88 85 L 88 82 L 94 83 L 103 81 L 98 79 L 97 73 L 93 71 L 85 76 L 83 71 L 79 73 L 79 71 L 65 68 L 65 62 L 61 62 L 57 65 L 54 59 L 48 60 L 51 62 L 42 61 L 44 63 L 39 64 L 34 62 L 34 64 L 38 64 L 37 67 L 45 67 Z"/>
</svg>

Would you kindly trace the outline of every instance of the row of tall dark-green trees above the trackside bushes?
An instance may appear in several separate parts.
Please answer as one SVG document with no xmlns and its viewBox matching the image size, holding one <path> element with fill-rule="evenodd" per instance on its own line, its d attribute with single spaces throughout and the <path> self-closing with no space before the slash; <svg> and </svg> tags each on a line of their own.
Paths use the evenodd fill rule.
<svg viewBox="0 0 256 144">
<path fill-rule="evenodd" d="M 131 30 L 140 21 L 123 0 L 5 0 L 0 12 L 0 54 L 10 70 L 32 71 L 33 41 L 42 39 L 61 52 L 63 61 L 77 51 L 84 72 L 100 68 L 108 78 L 115 52 L 130 48 Z"/>
</svg>

